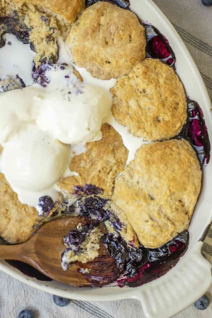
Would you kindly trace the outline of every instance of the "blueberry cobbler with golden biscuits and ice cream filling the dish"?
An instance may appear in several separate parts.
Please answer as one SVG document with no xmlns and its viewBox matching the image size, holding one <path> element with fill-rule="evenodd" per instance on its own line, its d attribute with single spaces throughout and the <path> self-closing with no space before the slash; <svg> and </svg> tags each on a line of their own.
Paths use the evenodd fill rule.
<svg viewBox="0 0 212 318">
<path fill-rule="evenodd" d="M 128 1 L 0 0 L 1 244 L 78 216 L 58 261 L 86 286 L 137 287 L 176 265 L 210 143 L 175 63 Z"/>
</svg>

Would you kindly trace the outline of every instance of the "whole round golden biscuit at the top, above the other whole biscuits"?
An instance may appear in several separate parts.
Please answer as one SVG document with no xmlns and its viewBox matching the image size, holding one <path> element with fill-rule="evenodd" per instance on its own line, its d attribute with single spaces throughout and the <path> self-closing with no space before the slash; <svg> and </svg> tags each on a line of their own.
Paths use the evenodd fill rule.
<svg viewBox="0 0 212 318">
<path fill-rule="evenodd" d="M 146 55 L 145 29 L 136 15 L 108 2 L 83 11 L 66 45 L 76 65 L 99 79 L 127 74 Z"/>
</svg>

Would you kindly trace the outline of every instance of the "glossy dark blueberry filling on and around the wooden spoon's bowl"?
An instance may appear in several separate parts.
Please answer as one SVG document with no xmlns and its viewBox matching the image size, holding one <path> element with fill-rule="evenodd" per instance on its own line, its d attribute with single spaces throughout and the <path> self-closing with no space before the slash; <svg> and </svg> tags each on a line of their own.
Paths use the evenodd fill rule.
<svg viewBox="0 0 212 318">
<path fill-rule="evenodd" d="M 96 195 L 79 199 L 80 215 L 87 218 L 85 224 L 79 229 L 75 227 L 75 230 L 71 231 L 63 239 L 67 249 L 62 254 L 62 259 L 65 253 L 70 250 L 75 253 L 80 252 L 81 244 L 85 241 L 87 233 L 94 227 L 99 226 L 99 222 L 104 223 L 112 218 L 112 211 L 104 209 L 107 203 L 108 200 Z M 113 215 L 113 218 L 116 217 Z M 121 223 L 119 223 L 119 220 L 116 220 L 116 222 L 120 231 L 122 228 Z M 130 246 L 120 236 L 118 231 L 116 234 L 104 234 L 100 239 L 100 242 L 106 246 L 109 256 L 114 259 L 118 270 L 117 273 L 125 273 L 124 277 L 117 280 L 117 284 L 120 287 L 125 285 L 130 287 L 140 286 L 165 274 L 176 265 L 179 258 L 186 252 L 188 241 L 188 231 L 181 232 L 172 241 L 157 249 L 147 249 L 142 245 L 138 248 Z M 69 264 L 63 262 L 63 266 L 66 266 L 65 268 L 67 269 Z M 95 284 L 97 282 L 99 284 L 101 281 L 100 277 L 97 279 L 97 275 L 95 277 L 90 273 L 85 275 L 87 278 L 92 279 L 93 286 L 97 286 Z"/>
</svg>

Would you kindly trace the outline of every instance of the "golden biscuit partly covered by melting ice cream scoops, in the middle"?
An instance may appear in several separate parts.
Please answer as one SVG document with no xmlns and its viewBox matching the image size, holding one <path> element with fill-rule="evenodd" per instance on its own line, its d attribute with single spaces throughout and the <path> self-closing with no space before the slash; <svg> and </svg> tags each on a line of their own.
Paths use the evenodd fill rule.
<svg viewBox="0 0 212 318">
<path fill-rule="evenodd" d="M 70 169 L 78 175 L 61 179 L 60 188 L 73 193 L 74 186 L 88 183 L 102 188 L 105 196 L 112 195 L 115 176 L 124 169 L 128 150 L 109 124 L 102 125 L 101 131 L 101 140 L 87 143 L 86 152 L 73 157 Z"/>
</svg>

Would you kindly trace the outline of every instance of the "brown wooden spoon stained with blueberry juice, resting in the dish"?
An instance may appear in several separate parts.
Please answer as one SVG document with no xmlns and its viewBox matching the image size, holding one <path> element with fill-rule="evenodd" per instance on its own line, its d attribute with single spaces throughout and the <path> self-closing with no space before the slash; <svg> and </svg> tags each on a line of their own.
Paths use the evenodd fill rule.
<svg viewBox="0 0 212 318">
<path fill-rule="evenodd" d="M 65 250 L 62 238 L 85 218 L 64 217 L 46 223 L 27 242 L 18 245 L 0 245 L 0 259 L 27 263 L 53 280 L 73 286 L 101 286 L 114 281 L 119 275 L 115 261 L 100 244 L 99 256 L 91 262 L 73 263 L 67 271 L 61 267 L 61 254 Z M 100 229 L 105 228 L 100 224 Z M 89 269 L 81 273 L 79 269 Z"/>
</svg>

